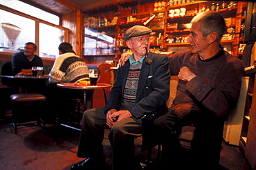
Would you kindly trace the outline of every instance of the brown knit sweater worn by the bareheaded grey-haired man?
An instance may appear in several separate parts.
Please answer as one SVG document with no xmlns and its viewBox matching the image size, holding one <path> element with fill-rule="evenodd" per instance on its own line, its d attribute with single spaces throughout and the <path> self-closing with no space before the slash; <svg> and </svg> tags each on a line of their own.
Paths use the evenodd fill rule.
<svg viewBox="0 0 256 170">
<path fill-rule="evenodd" d="M 191 111 L 204 111 L 217 117 L 225 115 L 239 98 L 243 63 L 228 52 L 220 50 L 212 58 L 202 61 L 191 50 L 169 56 L 172 75 L 178 75 L 183 66 L 196 77 L 190 82 L 179 80 L 176 98 L 170 109 L 180 118 Z"/>
</svg>

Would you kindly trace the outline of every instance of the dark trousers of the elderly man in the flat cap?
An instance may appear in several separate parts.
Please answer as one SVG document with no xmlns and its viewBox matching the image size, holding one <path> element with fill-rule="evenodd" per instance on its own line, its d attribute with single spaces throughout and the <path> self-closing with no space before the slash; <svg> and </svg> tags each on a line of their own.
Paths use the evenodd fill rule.
<svg viewBox="0 0 256 170">
<path fill-rule="evenodd" d="M 84 111 L 82 131 L 77 156 L 92 158 L 103 155 L 103 138 L 106 125 L 104 107 Z M 142 120 L 127 118 L 109 131 L 109 142 L 112 148 L 112 169 L 128 170 L 134 168 L 134 138 L 142 134 Z"/>
</svg>

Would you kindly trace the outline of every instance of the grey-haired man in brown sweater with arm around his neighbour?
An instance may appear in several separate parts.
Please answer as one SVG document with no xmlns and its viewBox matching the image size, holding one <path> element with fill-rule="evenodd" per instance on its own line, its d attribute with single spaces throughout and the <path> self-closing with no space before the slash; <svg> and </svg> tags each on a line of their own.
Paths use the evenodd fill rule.
<svg viewBox="0 0 256 170">
<path fill-rule="evenodd" d="M 168 113 L 154 120 L 163 147 L 157 169 L 219 169 L 223 123 L 239 98 L 244 65 L 219 43 L 225 20 L 218 12 L 203 12 L 191 23 L 192 49 L 169 58 L 171 74 L 179 77 L 176 98 Z M 175 131 L 191 124 L 196 129 L 187 156 Z"/>
</svg>

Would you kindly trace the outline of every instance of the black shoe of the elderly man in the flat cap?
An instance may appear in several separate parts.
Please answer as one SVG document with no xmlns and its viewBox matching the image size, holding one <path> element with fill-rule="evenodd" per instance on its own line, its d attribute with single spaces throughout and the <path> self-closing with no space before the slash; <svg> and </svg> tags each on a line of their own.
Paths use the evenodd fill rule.
<svg viewBox="0 0 256 170">
<path fill-rule="evenodd" d="M 104 156 L 101 158 L 87 158 L 86 160 L 82 160 L 76 164 L 73 164 L 71 170 L 78 169 L 105 169 L 106 168 L 106 159 Z"/>
</svg>

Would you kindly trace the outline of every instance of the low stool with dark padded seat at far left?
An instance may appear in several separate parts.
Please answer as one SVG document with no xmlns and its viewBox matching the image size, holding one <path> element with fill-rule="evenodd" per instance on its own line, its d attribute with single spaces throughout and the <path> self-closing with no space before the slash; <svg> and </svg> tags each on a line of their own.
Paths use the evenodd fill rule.
<svg viewBox="0 0 256 170">
<path fill-rule="evenodd" d="M 35 124 L 42 127 L 41 123 L 45 127 L 44 122 L 40 119 L 42 111 L 44 109 L 44 102 L 46 97 L 38 93 L 28 94 L 12 94 L 10 95 L 10 101 L 12 103 L 12 127 L 15 134 L 17 134 L 17 126 Z M 21 122 L 21 118 L 30 118 L 33 121 Z M 18 123 L 19 122 L 19 123 Z"/>
</svg>

